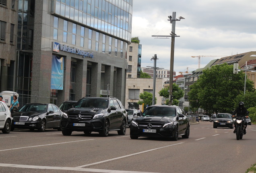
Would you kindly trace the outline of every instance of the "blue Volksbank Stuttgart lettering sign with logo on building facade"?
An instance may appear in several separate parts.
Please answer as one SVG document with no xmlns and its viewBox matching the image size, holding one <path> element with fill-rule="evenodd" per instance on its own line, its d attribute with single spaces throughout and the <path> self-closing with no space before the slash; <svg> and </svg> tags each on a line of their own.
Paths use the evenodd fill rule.
<svg viewBox="0 0 256 173">
<path fill-rule="evenodd" d="M 65 45 L 65 44 L 60 44 L 58 42 L 52 42 L 52 51 L 54 52 L 60 52 L 64 51 L 64 52 L 69 52 L 69 53 L 73 53 L 73 54 L 78 54 L 78 55 L 82 55 L 83 58 L 85 57 L 89 57 L 89 58 L 93 58 L 93 52 L 86 52 L 84 50 L 79 50 L 78 48 L 70 48 L 69 46 Z"/>
</svg>

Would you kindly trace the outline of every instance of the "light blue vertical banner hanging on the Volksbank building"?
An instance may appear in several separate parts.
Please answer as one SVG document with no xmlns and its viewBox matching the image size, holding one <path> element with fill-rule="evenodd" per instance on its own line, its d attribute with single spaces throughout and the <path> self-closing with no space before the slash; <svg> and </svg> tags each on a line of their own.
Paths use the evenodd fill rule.
<svg viewBox="0 0 256 173">
<path fill-rule="evenodd" d="M 63 90 L 64 58 L 52 55 L 51 89 Z"/>
</svg>

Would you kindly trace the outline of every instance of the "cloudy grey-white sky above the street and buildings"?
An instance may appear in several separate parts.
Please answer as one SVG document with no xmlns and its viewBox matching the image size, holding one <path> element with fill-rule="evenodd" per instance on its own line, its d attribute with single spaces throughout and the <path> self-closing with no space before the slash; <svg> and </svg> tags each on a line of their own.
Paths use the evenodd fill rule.
<svg viewBox="0 0 256 173">
<path fill-rule="evenodd" d="M 142 44 L 142 67 L 170 69 L 171 37 L 157 39 L 152 35 L 169 35 L 168 16 L 176 12 L 174 71 L 200 68 L 211 60 L 256 51 L 256 0 L 133 0 L 132 37 Z M 219 56 L 219 57 L 217 57 Z M 177 74 L 177 73 L 176 73 Z"/>
</svg>

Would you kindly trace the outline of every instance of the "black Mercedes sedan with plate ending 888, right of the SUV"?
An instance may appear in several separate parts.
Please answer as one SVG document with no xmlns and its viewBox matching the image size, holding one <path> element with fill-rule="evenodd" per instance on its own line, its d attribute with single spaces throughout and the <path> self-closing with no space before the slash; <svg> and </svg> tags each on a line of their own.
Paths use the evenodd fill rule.
<svg viewBox="0 0 256 173">
<path fill-rule="evenodd" d="M 165 137 L 177 141 L 179 136 L 188 138 L 189 134 L 189 119 L 178 106 L 149 106 L 130 124 L 131 139 Z"/>
</svg>

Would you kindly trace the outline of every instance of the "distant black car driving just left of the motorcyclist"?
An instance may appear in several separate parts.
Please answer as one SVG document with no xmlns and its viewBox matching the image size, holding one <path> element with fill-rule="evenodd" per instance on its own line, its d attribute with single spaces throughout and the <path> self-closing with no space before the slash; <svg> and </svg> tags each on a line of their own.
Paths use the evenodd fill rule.
<svg viewBox="0 0 256 173">
<path fill-rule="evenodd" d="M 213 121 L 213 128 L 217 127 L 229 127 L 234 128 L 234 122 L 232 120 L 231 114 L 229 113 L 218 113 L 215 120 Z"/>
</svg>

